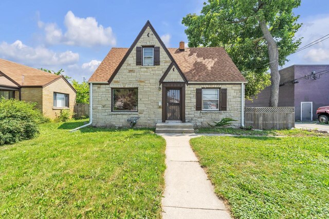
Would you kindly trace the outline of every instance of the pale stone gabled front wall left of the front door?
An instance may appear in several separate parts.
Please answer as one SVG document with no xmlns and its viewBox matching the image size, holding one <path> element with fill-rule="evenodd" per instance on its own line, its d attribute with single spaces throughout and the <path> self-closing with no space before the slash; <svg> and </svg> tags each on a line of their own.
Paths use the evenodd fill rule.
<svg viewBox="0 0 329 219">
<path fill-rule="evenodd" d="M 148 45 L 160 47 L 160 65 L 136 66 L 136 47 Z M 158 106 L 162 101 L 159 80 L 170 64 L 169 56 L 152 30 L 147 28 L 112 83 L 93 85 L 93 125 L 129 126 L 127 118 L 139 116 L 138 126 L 154 127 L 162 120 L 162 109 Z M 138 112 L 111 112 L 111 88 L 138 88 Z"/>
</svg>

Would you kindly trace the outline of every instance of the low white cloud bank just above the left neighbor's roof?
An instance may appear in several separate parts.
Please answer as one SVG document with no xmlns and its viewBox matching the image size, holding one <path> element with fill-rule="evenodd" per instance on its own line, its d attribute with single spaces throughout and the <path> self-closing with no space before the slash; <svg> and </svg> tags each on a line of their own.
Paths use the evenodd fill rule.
<svg viewBox="0 0 329 219">
<path fill-rule="evenodd" d="M 79 62 L 79 54 L 72 51 L 54 52 L 44 47 L 29 47 L 17 40 L 0 44 L 0 57 L 34 67 L 64 66 Z M 37 66 L 36 66 L 37 65 Z"/>
</svg>

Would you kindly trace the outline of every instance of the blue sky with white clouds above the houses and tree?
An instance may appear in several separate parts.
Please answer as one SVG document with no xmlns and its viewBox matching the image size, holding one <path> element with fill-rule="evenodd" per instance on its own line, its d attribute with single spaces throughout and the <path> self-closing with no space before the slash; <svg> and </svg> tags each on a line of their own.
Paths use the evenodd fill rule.
<svg viewBox="0 0 329 219">
<path fill-rule="evenodd" d="M 181 19 L 204 1 L 0 1 L 0 57 L 59 70 L 82 81 L 112 47 L 130 47 L 149 19 L 167 47 L 187 42 Z M 329 2 L 302 0 L 302 45 L 329 33 Z M 293 64 L 329 64 L 329 39 L 290 55 Z"/>
</svg>

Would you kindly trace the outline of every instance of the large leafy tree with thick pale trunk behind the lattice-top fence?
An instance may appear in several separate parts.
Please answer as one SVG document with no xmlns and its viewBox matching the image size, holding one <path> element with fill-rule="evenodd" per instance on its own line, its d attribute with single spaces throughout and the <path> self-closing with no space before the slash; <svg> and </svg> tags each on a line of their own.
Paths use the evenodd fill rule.
<svg viewBox="0 0 329 219">
<path fill-rule="evenodd" d="M 301 26 L 296 23 L 299 16 L 292 12 L 300 2 L 208 0 L 200 15 L 188 14 L 182 24 L 188 27 L 185 32 L 189 47 L 223 46 L 247 79 L 254 74 L 251 83 L 255 83 L 257 89 L 247 90 L 247 97 L 265 87 L 259 79 L 266 78 L 266 71 L 270 68 L 269 106 L 278 106 L 279 65 L 284 65 L 286 57 L 301 43 L 295 38 Z"/>
</svg>

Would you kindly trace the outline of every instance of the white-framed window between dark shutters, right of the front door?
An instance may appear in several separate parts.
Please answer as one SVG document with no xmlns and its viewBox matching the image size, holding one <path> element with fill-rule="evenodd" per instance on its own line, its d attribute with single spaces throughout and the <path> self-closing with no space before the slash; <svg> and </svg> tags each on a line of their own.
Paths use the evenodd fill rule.
<svg viewBox="0 0 329 219">
<path fill-rule="evenodd" d="M 220 110 L 220 89 L 202 89 L 202 110 Z"/>
</svg>

